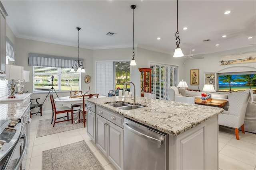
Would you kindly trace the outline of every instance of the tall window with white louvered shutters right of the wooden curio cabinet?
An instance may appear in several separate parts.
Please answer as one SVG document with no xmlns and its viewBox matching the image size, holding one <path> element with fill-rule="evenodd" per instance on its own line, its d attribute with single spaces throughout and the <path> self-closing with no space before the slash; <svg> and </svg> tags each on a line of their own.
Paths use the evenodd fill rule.
<svg viewBox="0 0 256 170">
<path fill-rule="evenodd" d="M 177 86 L 178 66 L 150 63 L 152 68 L 151 93 L 156 94 L 157 99 L 168 100 L 168 88 Z"/>
</svg>

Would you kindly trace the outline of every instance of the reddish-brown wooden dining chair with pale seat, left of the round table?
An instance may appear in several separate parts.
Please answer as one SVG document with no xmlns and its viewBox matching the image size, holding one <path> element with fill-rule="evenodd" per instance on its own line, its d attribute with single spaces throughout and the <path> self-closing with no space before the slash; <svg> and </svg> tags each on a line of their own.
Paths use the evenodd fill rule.
<svg viewBox="0 0 256 170">
<path fill-rule="evenodd" d="M 73 124 L 73 109 L 68 107 L 68 106 L 56 107 L 52 94 L 50 94 L 50 100 L 51 100 L 51 104 L 52 104 L 52 113 L 53 113 L 52 114 L 52 121 L 54 121 L 53 127 L 54 127 L 55 123 L 60 123 L 60 122 L 63 122 L 63 121 L 70 121 L 71 120 L 71 123 Z M 71 119 L 68 118 L 68 113 L 69 112 L 71 112 Z M 57 114 L 60 114 L 60 113 L 67 113 L 67 115 L 62 116 L 62 117 L 57 117 Z M 67 117 L 67 119 L 65 119 L 65 117 Z M 56 121 L 57 119 L 61 119 L 61 118 L 63 118 L 64 120 Z M 51 122 L 51 124 L 52 124 L 52 122 Z"/>
</svg>

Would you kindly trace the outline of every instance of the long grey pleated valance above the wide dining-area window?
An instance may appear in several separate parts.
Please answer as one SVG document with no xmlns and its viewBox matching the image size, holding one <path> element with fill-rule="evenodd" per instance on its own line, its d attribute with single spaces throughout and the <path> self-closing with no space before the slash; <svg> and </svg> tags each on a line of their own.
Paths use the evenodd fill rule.
<svg viewBox="0 0 256 170">
<path fill-rule="evenodd" d="M 28 54 L 29 66 L 44 66 L 44 67 L 59 67 L 59 68 L 71 68 L 74 65 L 76 58 L 72 57 L 60 57 L 54 55 L 43 54 Z M 80 59 L 84 61 L 83 59 Z"/>
</svg>

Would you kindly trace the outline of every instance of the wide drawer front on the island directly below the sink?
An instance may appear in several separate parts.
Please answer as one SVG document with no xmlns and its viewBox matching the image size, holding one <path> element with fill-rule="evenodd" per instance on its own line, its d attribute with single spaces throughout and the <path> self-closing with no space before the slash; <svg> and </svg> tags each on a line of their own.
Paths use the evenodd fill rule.
<svg viewBox="0 0 256 170">
<path fill-rule="evenodd" d="M 108 111 L 106 109 L 103 109 L 102 107 L 96 106 L 97 114 L 106 118 L 107 120 L 111 121 L 112 123 L 115 123 L 116 125 L 123 127 L 123 116 L 118 115 L 117 113 L 113 113 L 111 111 Z"/>
</svg>

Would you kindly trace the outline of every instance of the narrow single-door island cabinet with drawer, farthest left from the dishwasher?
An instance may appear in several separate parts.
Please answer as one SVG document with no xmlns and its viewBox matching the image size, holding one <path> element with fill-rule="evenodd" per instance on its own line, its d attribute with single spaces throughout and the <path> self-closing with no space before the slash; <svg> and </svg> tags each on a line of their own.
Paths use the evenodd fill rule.
<svg viewBox="0 0 256 170">
<path fill-rule="evenodd" d="M 86 127 L 87 135 L 96 143 L 96 113 L 94 113 L 95 105 L 87 102 L 86 109 Z"/>
</svg>

